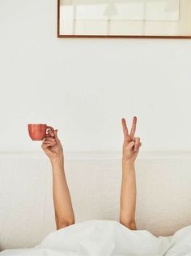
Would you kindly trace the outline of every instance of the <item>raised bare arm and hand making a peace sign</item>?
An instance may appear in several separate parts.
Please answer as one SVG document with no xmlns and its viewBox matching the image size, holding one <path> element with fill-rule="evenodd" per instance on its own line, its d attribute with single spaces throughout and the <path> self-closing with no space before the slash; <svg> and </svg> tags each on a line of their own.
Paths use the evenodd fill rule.
<svg viewBox="0 0 191 256">
<path fill-rule="evenodd" d="M 137 118 L 134 116 L 130 134 L 128 132 L 125 119 L 122 119 L 121 121 L 124 133 L 124 142 L 122 154 L 120 223 L 125 225 L 127 228 L 137 229 L 135 223 L 136 174 L 134 163 L 142 144 L 139 137 L 134 137 Z"/>
</svg>

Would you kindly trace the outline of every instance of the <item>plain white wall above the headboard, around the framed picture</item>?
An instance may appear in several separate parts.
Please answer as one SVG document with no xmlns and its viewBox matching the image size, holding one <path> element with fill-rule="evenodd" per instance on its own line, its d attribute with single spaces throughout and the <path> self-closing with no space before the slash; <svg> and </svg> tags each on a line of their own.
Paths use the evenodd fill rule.
<svg viewBox="0 0 191 256">
<path fill-rule="evenodd" d="M 39 150 L 28 123 L 65 149 L 120 150 L 138 116 L 142 150 L 190 150 L 190 40 L 58 39 L 56 0 L 0 1 L 0 150 Z"/>
</svg>

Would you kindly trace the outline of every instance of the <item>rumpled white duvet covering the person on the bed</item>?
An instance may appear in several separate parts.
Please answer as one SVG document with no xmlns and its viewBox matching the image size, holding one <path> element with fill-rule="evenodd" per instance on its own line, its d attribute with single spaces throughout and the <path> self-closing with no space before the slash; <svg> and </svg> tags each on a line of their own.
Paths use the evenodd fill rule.
<svg viewBox="0 0 191 256">
<path fill-rule="evenodd" d="M 91 220 L 50 233 L 40 245 L 28 249 L 6 249 L 0 256 L 70 255 L 190 255 L 191 226 L 174 236 L 153 236 L 145 230 L 132 231 L 117 221 Z"/>
</svg>

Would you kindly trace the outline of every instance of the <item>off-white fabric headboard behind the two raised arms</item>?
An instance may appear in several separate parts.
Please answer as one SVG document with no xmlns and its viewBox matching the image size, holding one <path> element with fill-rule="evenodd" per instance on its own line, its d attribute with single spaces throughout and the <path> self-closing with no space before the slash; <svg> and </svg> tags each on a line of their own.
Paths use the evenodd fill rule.
<svg viewBox="0 0 191 256">
<path fill-rule="evenodd" d="M 118 219 L 121 155 L 66 154 L 76 222 Z M 191 153 L 141 153 L 137 226 L 171 235 L 191 224 Z M 0 249 L 37 245 L 55 230 L 52 172 L 43 153 L 0 154 Z"/>
</svg>

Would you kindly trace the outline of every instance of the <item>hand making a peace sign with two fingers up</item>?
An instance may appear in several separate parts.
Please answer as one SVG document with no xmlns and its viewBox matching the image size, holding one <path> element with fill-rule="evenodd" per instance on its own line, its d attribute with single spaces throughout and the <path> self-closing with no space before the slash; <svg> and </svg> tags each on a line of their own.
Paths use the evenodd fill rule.
<svg viewBox="0 0 191 256">
<path fill-rule="evenodd" d="M 134 133 L 136 131 L 137 125 L 137 117 L 134 116 L 133 124 L 130 130 L 130 134 L 128 132 L 128 128 L 126 125 L 125 119 L 121 119 L 123 133 L 124 133 L 124 142 L 123 142 L 123 160 L 124 161 L 135 161 L 138 156 L 138 150 L 142 143 L 140 142 L 139 137 L 134 137 Z"/>
</svg>

